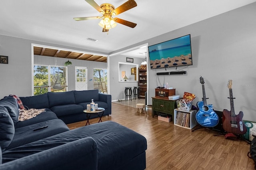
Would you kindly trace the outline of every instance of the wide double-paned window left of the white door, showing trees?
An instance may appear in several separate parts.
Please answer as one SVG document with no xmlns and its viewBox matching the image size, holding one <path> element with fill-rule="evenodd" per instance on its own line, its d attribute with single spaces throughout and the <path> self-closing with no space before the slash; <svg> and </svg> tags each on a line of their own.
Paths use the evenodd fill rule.
<svg viewBox="0 0 256 170">
<path fill-rule="evenodd" d="M 67 67 L 34 65 L 34 95 L 67 91 Z"/>
</svg>

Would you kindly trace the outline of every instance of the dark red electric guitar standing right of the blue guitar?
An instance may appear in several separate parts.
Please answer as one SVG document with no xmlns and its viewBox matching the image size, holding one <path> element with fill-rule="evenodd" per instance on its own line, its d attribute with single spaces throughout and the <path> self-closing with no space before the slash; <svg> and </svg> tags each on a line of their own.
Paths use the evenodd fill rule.
<svg viewBox="0 0 256 170">
<path fill-rule="evenodd" d="M 230 111 L 224 109 L 223 110 L 223 129 L 226 132 L 233 134 L 245 134 L 247 132 L 247 128 L 244 125 L 242 118 L 244 116 L 243 112 L 240 111 L 238 115 L 235 114 L 234 110 L 234 100 L 232 93 L 232 80 L 228 81 L 228 89 L 229 89 L 229 99 L 230 99 Z"/>
</svg>

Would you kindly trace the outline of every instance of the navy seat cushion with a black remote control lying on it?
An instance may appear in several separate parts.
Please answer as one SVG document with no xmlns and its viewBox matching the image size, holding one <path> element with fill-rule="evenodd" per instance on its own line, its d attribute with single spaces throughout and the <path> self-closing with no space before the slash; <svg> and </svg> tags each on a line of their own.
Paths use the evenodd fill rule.
<svg viewBox="0 0 256 170">
<path fill-rule="evenodd" d="M 40 130 L 34 131 L 34 129 L 46 125 L 48 126 L 47 128 L 42 128 Z M 60 119 L 52 119 L 50 121 L 44 121 L 26 127 L 16 128 L 12 142 L 10 143 L 8 148 L 6 148 L 6 150 L 9 150 L 10 148 L 14 148 L 17 146 L 21 146 L 23 144 L 34 142 L 36 140 L 47 138 L 49 136 L 59 134 L 61 132 L 66 132 L 68 130 L 69 128 L 67 127 L 67 125 Z"/>
</svg>

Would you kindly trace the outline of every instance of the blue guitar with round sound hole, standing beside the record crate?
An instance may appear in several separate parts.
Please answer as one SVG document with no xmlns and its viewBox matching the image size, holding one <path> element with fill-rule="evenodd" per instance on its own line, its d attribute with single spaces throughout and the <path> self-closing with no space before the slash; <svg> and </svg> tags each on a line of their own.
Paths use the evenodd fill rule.
<svg viewBox="0 0 256 170">
<path fill-rule="evenodd" d="M 219 123 L 218 115 L 213 111 L 213 105 L 207 105 L 204 90 L 204 78 L 200 77 L 200 83 L 203 89 L 203 101 L 197 102 L 199 111 L 196 113 L 196 121 L 202 127 L 215 127 Z"/>
</svg>

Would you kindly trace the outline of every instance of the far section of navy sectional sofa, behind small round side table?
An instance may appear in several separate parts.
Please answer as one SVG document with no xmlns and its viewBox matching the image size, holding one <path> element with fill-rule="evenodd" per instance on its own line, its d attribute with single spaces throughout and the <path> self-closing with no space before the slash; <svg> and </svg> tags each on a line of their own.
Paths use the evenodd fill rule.
<svg viewBox="0 0 256 170">
<path fill-rule="evenodd" d="M 83 112 L 87 104 L 98 104 L 98 107 L 105 109 L 103 116 L 111 114 L 111 95 L 99 93 L 96 90 L 48 92 L 43 95 L 20 97 L 23 105 L 29 109 L 46 109 L 54 112 L 58 119 L 66 124 L 86 120 Z M 95 117 L 92 117 L 95 118 Z"/>
</svg>

